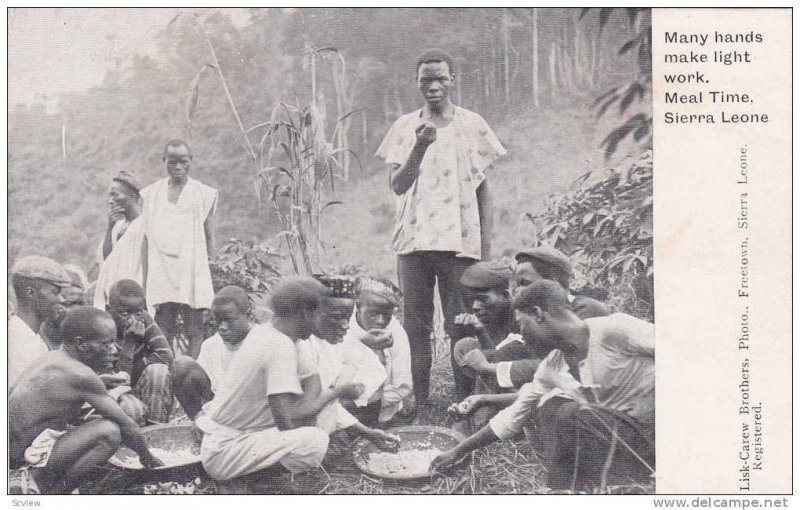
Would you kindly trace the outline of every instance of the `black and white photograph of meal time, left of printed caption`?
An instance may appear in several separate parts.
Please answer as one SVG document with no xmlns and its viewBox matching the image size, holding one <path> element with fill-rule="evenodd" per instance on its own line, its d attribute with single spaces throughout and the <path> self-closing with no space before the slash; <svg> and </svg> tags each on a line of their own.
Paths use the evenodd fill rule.
<svg viewBox="0 0 800 510">
<path fill-rule="evenodd" d="M 649 8 L 7 26 L 8 494 L 656 493 Z"/>
</svg>

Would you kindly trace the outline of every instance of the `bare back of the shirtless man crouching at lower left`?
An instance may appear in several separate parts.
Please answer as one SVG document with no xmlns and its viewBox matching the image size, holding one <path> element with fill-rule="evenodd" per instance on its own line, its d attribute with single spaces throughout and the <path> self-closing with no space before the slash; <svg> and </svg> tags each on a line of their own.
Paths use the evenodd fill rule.
<svg viewBox="0 0 800 510">
<path fill-rule="evenodd" d="M 8 398 L 9 454 L 21 460 L 25 449 L 45 429 L 65 430 L 87 396 L 103 388 L 88 366 L 61 350 L 39 358 Z"/>
</svg>

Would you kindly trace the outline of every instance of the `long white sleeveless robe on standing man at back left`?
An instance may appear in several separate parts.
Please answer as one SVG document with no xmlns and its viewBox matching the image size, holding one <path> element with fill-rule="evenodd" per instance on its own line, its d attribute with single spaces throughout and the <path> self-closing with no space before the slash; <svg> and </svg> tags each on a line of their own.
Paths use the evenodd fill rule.
<svg viewBox="0 0 800 510">
<path fill-rule="evenodd" d="M 147 235 L 147 304 L 183 303 L 210 308 L 214 299 L 204 224 L 218 192 L 189 178 L 178 202 L 167 200 L 169 179 L 142 190 Z"/>
</svg>

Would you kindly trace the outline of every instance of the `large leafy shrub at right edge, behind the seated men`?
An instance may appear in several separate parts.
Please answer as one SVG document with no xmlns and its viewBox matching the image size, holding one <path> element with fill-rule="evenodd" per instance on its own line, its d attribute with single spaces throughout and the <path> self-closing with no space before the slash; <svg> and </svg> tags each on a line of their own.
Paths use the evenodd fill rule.
<svg viewBox="0 0 800 510">
<path fill-rule="evenodd" d="M 618 168 L 588 172 L 573 191 L 551 199 L 544 213 L 528 216 L 533 244 L 570 257 L 579 292 L 607 291 L 620 311 L 652 319 L 652 151 Z"/>
</svg>

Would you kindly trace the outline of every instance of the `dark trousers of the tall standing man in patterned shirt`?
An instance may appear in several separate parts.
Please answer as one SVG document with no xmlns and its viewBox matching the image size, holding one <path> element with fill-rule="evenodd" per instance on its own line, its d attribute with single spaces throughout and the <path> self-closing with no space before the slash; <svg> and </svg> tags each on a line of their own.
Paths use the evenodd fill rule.
<svg viewBox="0 0 800 510">
<path fill-rule="evenodd" d="M 450 337 L 456 396 L 462 399 L 472 393 L 473 381 L 453 362 L 453 346 L 463 336 L 453 319 L 464 312 L 461 274 L 476 262 L 475 259 L 456 257 L 452 251 L 417 251 L 397 256 L 398 279 L 403 291 L 403 327 L 411 347 L 411 378 L 418 403 L 426 402 L 430 394 L 433 289 L 436 283 L 442 299 L 445 333 Z"/>
</svg>

